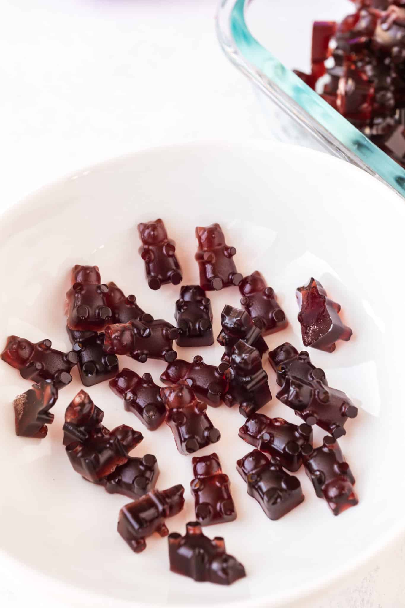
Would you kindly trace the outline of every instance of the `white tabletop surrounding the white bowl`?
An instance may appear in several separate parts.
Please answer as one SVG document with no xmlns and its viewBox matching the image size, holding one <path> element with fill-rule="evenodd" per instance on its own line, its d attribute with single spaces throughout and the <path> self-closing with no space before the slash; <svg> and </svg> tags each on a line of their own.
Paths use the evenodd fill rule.
<svg viewBox="0 0 405 608">
<path fill-rule="evenodd" d="M 268 137 L 253 89 L 217 43 L 216 4 L 2 0 L 0 211 L 119 154 L 186 140 Z M 332 540 L 325 539 L 328 550 Z M 404 572 L 401 538 L 361 571 L 291 608 L 400 608 Z M 3 593 L 5 606 L 20 605 L 18 590 Z M 37 605 L 41 598 L 33 598 Z"/>
</svg>

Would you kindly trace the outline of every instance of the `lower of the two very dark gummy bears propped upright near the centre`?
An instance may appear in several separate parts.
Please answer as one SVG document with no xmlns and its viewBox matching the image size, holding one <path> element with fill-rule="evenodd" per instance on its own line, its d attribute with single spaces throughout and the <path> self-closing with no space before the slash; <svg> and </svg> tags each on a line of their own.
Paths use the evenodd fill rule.
<svg viewBox="0 0 405 608">
<path fill-rule="evenodd" d="M 225 378 L 229 382 L 228 392 L 223 398 L 225 405 L 232 407 L 239 403 L 239 412 L 245 418 L 271 399 L 268 376 L 262 368 L 259 351 L 242 340 L 233 347 Z"/>
</svg>

